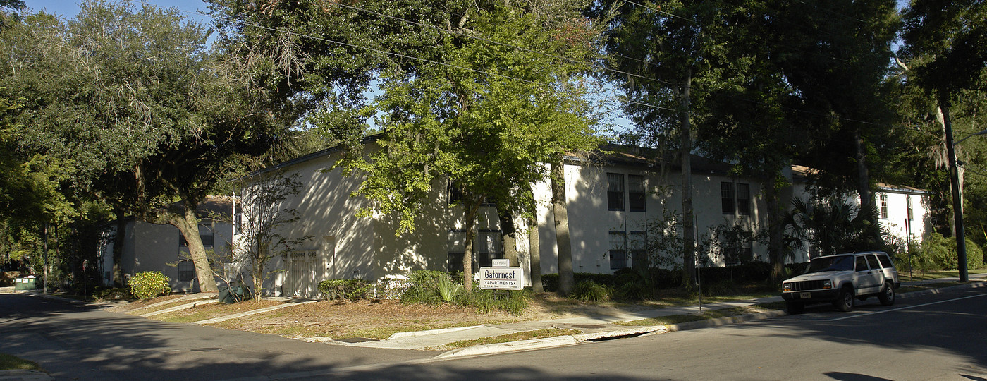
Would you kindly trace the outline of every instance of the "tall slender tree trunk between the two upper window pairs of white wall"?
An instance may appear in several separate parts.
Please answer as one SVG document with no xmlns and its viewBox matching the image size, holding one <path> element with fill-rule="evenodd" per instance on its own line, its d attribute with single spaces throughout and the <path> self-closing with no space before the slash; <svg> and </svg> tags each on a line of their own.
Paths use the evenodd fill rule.
<svg viewBox="0 0 987 381">
<path fill-rule="evenodd" d="M 687 69 L 679 89 L 679 149 L 682 161 L 682 285 L 688 288 L 695 287 L 692 275 L 696 271 L 695 213 L 692 207 L 692 122 L 689 119 L 691 87 L 692 70 Z"/>
</svg>

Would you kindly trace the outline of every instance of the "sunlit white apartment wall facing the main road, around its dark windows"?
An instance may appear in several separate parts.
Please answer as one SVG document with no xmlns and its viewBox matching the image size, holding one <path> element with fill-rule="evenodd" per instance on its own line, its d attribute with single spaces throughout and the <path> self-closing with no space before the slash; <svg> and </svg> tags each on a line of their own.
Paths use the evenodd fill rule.
<svg viewBox="0 0 987 381">
<path fill-rule="evenodd" d="M 681 187 L 681 174 L 669 173 L 662 176 L 656 172 L 644 171 L 633 166 L 566 165 L 566 195 L 569 209 L 569 239 L 572 248 L 572 267 L 576 272 L 612 273 L 610 267 L 610 232 L 648 232 L 655 219 L 668 213 L 681 216 L 682 197 L 677 191 Z M 645 211 L 630 211 L 627 206 L 629 196 L 625 187 L 624 210 L 610 210 L 607 203 L 607 174 L 621 174 L 625 182 L 628 176 L 645 177 Z M 750 214 L 723 214 L 721 209 L 721 183 L 750 186 Z M 693 208 L 700 235 L 709 235 L 716 225 L 740 224 L 751 230 L 766 224 L 765 204 L 757 195 L 760 185 L 744 180 L 736 180 L 715 174 L 693 174 Z M 556 258 L 555 218 L 552 211 L 552 190 L 549 182 L 535 186 L 538 201 L 538 225 L 542 250 L 542 270 L 546 273 L 558 272 Z M 753 253 L 757 258 L 767 258 L 767 248 L 754 244 Z M 722 265 L 718 256 L 708 255 L 711 265 Z M 633 267 L 633 257 L 629 266 Z"/>
</svg>

